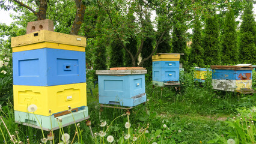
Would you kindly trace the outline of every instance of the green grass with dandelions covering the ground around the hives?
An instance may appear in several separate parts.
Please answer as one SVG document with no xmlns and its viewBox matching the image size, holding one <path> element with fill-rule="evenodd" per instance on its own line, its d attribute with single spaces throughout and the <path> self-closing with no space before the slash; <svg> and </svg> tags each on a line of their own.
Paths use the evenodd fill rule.
<svg viewBox="0 0 256 144">
<path fill-rule="evenodd" d="M 255 79 L 255 74 L 253 79 Z M 255 89 L 255 80 L 253 82 Z M 106 127 L 99 126 L 101 121 L 106 121 L 109 125 L 117 118 L 109 126 L 104 143 L 108 143 L 106 137 L 109 135 L 114 136 L 115 143 L 207 143 L 209 140 L 216 139 L 216 134 L 224 134 L 228 139 L 230 136 L 227 131 L 230 129 L 225 121 L 237 115 L 237 108 L 249 109 L 255 106 L 256 94 L 243 95 L 234 92 L 215 91 L 210 85 L 210 79 L 203 84 L 195 83 L 192 73 L 184 73 L 181 83 L 183 83 L 181 89 L 163 88 L 161 95 L 159 87 L 153 88 L 151 82 L 147 82 L 148 101 L 130 110 L 129 119 L 132 126 L 129 130 L 131 137 L 130 142 L 128 142 L 124 139 L 124 135 L 128 132 L 127 128 L 124 127 L 127 116 L 117 118 L 126 113 L 126 110 L 106 107 L 100 109 L 98 87 L 96 85 L 96 88 L 93 88 L 94 83 L 87 82 L 87 105 L 93 133 L 106 130 Z M 90 89 L 93 95 L 91 95 Z M 2 110 L 7 115 L 1 113 L 11 134 L 18 131 L 18 136 L 23 143 L 26 142 L 26 139 L 29 139 L 31 143 L 41 142 L 43 136 L 40 130 L 14 123 L 11 103 L 3 106 Z M 97 139 L 91 137 L 90 128 L 85 121 L 80 122 L 80 124 L 83 142 L 103 143 L 103 139 L 100 140 L 99 136 Z M 163 124 L 167 127 L 164 128 Z M 11 143 L 4 125 L 1 124 L 0 127 L 7 143 Z M 139 133 L 141 128 L 144 131 Z M 70 139 L 73 139 L 75 130 L 75 125 L 69 125 L 64 128 L 64 133 L 70 134 Z M 146 130 L 148 133 L 145 133 Z M 58 143 L 59 137 L 61 137 L 59 130 L 53 132 L 55 143 Z M 44 134 L 49 133 L 44 131 Z M 137 137 L 135 142 L 132 141 L 133 137 Z M 0 143 L 3 142 L 4 138 L 0 134 Z M 75 137 L 75 142 L 78 142 L 78 137 Z"/>
</svg>

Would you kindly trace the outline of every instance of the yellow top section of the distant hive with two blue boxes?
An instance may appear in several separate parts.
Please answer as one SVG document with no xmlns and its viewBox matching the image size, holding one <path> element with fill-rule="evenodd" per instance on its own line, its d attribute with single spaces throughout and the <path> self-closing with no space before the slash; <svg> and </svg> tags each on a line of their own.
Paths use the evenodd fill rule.
<svg viewBox="0 0 256 144">
<path fill-rule="evenodd" d="M 153 55 L 152 61 L 180 61 L 180 54 L 174 53 L 169 55 Z"/>
</svg>

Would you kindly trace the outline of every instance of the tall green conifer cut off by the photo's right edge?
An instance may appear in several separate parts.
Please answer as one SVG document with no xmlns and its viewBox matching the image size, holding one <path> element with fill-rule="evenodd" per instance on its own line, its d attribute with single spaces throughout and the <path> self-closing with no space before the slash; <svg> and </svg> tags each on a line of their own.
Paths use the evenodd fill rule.
<svg viewBox="0 0 256 144">
<path fill-rule="evenodd" d="M 242 20 L 243 22 L 240 26 L 240 62 L 256 64 L 256 29 L 251 2 L 246 5 Z"/>
</svg>

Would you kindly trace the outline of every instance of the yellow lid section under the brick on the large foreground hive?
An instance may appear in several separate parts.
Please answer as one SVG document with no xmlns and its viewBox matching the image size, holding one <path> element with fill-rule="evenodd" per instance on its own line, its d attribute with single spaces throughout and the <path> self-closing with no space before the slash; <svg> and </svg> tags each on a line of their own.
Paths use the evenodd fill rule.
<svg viewBox="0 0 256 144">
<path fill-rule="evenodd" d="M 62 34 L 59 32 L 41 30 L 26 35 L 11 38 L 11 47 L 26 46 L 35 43 L 58 43 L 71 46 L 86 47 L 86 38 L 78 35 Z"/>
</svg>

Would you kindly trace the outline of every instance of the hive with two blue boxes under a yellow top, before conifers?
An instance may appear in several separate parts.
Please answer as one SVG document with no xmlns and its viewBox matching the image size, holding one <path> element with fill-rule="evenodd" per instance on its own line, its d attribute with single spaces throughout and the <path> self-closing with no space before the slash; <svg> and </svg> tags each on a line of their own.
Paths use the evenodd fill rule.
<svg viewBox="0 0 256 144">
<path fill-rule="evenodd" d="M 152 56 L 153 85 L 177 84 L 180 80 L 180 53 L 157 53 Z"/>
</svg>

